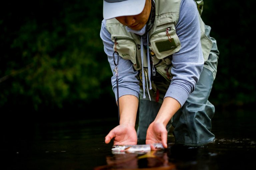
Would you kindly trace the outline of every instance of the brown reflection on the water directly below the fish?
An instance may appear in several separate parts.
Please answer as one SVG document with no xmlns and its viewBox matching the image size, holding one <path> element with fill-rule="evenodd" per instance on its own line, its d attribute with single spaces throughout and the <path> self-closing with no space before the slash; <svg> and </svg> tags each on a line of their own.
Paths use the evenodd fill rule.
<svg viewBox="0 0 256 170">
<path fill-rule="evenodd" d="M 167 152 L 150 151 L 145 153 L 112 152 L 107 156 L 107 165 L 95 167 L 94 170 L 173 170 L 176 166 L 168 161 Z"/>
</svg>

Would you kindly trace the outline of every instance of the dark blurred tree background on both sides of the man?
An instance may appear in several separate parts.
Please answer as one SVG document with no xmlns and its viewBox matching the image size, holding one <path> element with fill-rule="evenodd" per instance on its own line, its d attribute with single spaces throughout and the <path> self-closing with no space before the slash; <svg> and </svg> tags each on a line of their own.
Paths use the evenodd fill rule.
<svg viewBox="0 0 256 170">
<path fill-rule="evenodd" d="M 86 112 L 88 107 L 94 109 L 92 104 L 95 111 L 116 111 L 112 70 L 99 36 L 102 4 L 102 0 L 1 4 L 2 114 Z M 209 99 L 217 108 L 255 104 L 251 6 L 251 1 L 204 0 L 202 18 L 211 26 L 210 36 L 220 51 Z"/>
</svg>

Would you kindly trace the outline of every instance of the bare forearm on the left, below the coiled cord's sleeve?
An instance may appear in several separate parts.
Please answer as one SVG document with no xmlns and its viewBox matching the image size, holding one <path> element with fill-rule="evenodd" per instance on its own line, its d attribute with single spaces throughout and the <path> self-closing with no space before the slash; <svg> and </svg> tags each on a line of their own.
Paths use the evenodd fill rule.
<svg viewBox="0 0 256 170">
<path fill-rule="evenodd" d="M 120 105 L 120 125 L 131 125 L 135 127 L 136 115 L 139 100 L 133 95 L 124 95 L 119 98 Z"/>
</svg>

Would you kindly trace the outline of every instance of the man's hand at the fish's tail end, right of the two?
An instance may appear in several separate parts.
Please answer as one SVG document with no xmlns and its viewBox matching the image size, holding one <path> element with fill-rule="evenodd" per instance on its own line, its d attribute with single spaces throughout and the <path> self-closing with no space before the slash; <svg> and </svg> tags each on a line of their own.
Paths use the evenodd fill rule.
<svg viewBox="0 0 256 170">
<path fill-rule="evenodd" d="M 162 143 L 167 148 L 167 130 L 164 124 L 152 122 L 147 130 L 146 144 Z M 153 149 L 151 147 L 151 149 Z"/>
</svg>

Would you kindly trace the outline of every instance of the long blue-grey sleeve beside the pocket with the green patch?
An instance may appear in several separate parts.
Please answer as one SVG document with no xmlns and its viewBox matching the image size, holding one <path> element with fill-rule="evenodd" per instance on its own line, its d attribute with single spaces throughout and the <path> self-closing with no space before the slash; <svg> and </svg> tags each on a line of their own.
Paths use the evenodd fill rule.
<svg viewBox="0 0 256 170">
<path fill-rule="evenodd" d="M 173 78 L 165 94 L 165 97 L 176 99 L 181 106 L 195 90 L 204 64 L 198 15 L 194 0 L 181 1 L 180 16 L 175 26 L 181 48 L 173 54 Z"/>
</svg>

